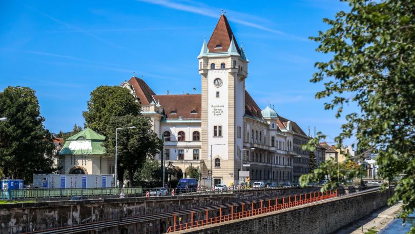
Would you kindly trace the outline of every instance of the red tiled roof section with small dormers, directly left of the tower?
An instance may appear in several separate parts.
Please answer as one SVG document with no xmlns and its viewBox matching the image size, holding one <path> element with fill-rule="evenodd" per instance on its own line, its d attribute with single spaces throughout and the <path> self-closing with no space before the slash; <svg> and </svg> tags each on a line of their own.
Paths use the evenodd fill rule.
<svg viewBox="0 0 415 234">
<path fill-rule="evenodd" d="M 161 108 L 168 119 L 201 119 L 202 95 L 178 94 L 178 95 L 153 95 L 156 102 L 160 102 Z M 172 114 L 176 111 L 176 114 Z M 192 111 L 196 111 L 192 114 Z"/>
</svg>

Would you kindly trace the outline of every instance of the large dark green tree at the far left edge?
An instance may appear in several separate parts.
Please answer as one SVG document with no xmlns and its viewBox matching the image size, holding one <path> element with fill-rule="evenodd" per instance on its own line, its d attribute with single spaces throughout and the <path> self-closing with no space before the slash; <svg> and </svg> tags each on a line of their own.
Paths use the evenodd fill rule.
<svg viewBox="0 0 415 234">
<path fill-rule="evenodd" d="M 0 170 L 6 177 L 31 181 L 34 172 L 53 168 L 53 136 L 45 128 L 35 91 L 7 87 L 0 92 Z"/>
</svg>

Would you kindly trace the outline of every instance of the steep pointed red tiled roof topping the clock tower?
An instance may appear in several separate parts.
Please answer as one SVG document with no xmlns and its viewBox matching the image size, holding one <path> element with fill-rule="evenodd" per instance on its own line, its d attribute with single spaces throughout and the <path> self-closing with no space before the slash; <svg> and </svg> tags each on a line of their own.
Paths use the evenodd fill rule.
<svg viewBox="0 0 415 234">
<path fill-rule="evenodd" d="M 227 52 L 231 45 L 232 36 L 234 36 L 236 49 L 238 50 L 238 53 L 241 54 L 235 35 L 232 32 L 229 22 L 227 22 L 226 16 L 221 15 L 208 43 L 209 53 Z M 217 45 L 221 45 L 222 48 L 215 49 Z"/>
</svg>

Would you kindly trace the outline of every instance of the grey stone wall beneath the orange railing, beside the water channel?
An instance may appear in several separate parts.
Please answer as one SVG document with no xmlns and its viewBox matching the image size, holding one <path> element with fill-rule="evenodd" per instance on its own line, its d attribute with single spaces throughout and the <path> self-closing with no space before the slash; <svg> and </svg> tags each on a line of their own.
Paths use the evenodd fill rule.
<svg viewBox="0 0 415 234">
<path fill-rule="evenodd" d="M 389 189 L 340 197 L 177 233 L 330 233 L 386 205 L 392 195 L 393 189 Z"/>
</svg>

